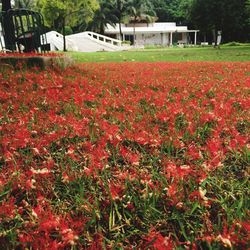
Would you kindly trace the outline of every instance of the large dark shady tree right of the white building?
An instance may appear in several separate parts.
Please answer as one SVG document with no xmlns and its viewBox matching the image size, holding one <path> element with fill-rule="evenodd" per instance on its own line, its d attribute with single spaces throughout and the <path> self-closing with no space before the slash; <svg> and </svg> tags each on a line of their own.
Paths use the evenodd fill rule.
<svg viewBox="0 0 250 250">
<path fill-rule="evenodd" d="M 249 40 L 249 0 L 194 0 L 190 20 L 202 33 L 213 33 L 216 45 L 217 33 L 222 31 L 224 42 Z"/>
</svg>

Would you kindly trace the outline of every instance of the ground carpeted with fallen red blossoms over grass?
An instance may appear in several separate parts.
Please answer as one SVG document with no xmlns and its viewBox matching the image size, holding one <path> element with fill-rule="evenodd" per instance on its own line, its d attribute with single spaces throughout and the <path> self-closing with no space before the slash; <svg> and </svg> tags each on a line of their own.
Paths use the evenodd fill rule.
<svg viewBox="0 0 250 250">
<path fill-rule="evenodd" d="M 0 70 L 0 249 L 247 249 L 250 63 Z"/>
</svg>

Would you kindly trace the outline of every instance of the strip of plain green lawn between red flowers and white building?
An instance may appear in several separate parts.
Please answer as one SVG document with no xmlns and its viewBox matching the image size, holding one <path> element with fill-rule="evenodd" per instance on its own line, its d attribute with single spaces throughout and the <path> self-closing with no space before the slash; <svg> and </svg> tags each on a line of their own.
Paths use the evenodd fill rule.
<svg viewBox="0 0 250 250">
<path fill-rule="evenodd" d="M 195 48 L 156 48 L 122 52 L 68 52 L 77 62 L 250 61 L 250 44 Z"/>
</svg>

